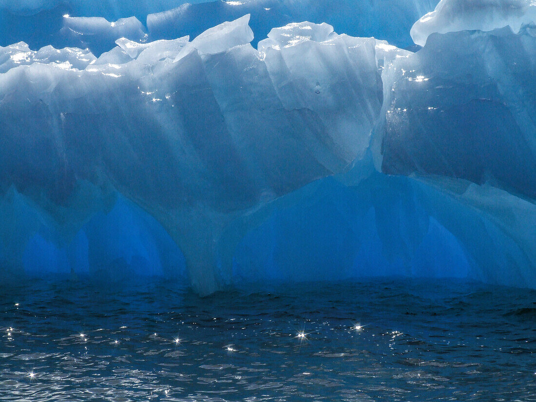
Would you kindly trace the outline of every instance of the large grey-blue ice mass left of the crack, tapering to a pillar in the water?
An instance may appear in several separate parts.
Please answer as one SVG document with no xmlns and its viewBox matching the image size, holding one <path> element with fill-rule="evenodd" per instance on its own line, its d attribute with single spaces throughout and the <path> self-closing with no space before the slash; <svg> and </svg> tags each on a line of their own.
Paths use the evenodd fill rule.
<svg viewBox="0 0 536 402">
<path fill-rule="evenodd" d="M 168 230 L 200 292 L 230 280 L 234 249 L 222 245 L 235 241 L 222 240 L 229 222 L 362 158 L 382 102 L 374 39 L 307 24 L 310 38 L 290 26 L 285 46 L 273 35 L 258 51 L 248 43 L 248 18 L 191 42 L 120 39 L 84 70 L 12 66 L 0 75 L 2 187 L 41 209 L 68 205 L 59 214 L 66 221 L 78 209 L 72 198 L 81 181 L 111 188 Z M 47 215 L 46 227 L 57 219 Z M 83 249 L 84 239 L 91 243 L 84 236 L 76 237 Z M 65 265 L 66 251 L 48 234 L 27 238 L 28 250 Z M 132 248 L 143 243 L 132 241 Z M 95 251 L 89 266 L 99 256 L 130 264 L 121 251 L 129 247 Z M 36 252 L 17 255 L 29 260 Z"/>
</svg>

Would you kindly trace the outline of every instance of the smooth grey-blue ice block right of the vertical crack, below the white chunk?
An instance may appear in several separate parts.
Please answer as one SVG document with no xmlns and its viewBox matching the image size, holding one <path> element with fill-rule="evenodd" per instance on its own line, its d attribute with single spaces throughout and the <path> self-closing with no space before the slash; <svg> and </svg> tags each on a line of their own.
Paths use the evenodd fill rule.
<svg viewBox="0 0 536 402">
<path fill-rule="evenodd" d="M 381 169 L 490 182 L 536 195 L 530 32 L 431 35 L 384 71 Z"/>
</svg>

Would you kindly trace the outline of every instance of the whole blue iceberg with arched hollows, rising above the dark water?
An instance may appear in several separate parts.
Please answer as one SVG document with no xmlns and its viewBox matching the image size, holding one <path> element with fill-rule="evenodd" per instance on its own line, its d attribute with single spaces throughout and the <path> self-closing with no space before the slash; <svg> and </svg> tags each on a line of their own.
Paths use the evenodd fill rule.
<svg viewBox="0 0 536 402">
<path fill-rule="evenodd" d="M 289 21 L 318 20 L 306 2 L 66 16 L 56 40 L 86 50 L 0 47 L 2 275 L 536 287 L 530 12 L 452 1 L 416 53 Z M 441 23 L 456 7 L 489 32 Z"/>
</svg>

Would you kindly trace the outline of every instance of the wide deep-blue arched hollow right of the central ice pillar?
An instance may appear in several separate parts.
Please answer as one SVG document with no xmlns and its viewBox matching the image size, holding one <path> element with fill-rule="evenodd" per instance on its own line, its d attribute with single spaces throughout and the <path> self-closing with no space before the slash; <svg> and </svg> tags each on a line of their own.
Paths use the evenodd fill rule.
<svg viewBox="0 0 536 402">
<path fill-rule="evenodd" d="M 356 185 L 326 178 L 309 187 L 307 195 L 299 190 L 299 202 L 279 200 L 270 217 L 243 237 L 234 257 L 236 278 L 251 283 L 472 274 L 464 245 L 427 211 L 411 179 L 376 173 Z"/>
</svg>

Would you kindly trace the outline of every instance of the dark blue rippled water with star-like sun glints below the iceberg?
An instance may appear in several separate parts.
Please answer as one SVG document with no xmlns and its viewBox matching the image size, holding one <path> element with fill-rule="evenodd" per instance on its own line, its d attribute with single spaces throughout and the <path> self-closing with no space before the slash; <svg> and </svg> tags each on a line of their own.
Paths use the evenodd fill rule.
<svg viewBox="0 0 536 402">
<path fill-rule="evenodd" d="M 536 400 L 535 291 L 445 280 L 203 299 L 166 282 L 0 291 L 0 400 Z"/>
</svg>

